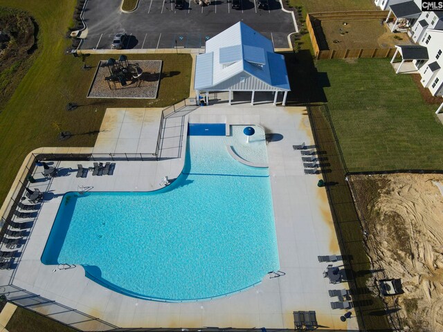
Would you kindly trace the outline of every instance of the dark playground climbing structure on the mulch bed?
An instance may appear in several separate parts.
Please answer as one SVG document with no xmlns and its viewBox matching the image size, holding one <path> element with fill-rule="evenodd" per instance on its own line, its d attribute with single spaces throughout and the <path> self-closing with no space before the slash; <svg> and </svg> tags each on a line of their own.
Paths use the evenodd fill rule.
<svg viewBox="0 0 443 332">
<path fill-rule="evenodd" d="M 105 77 L 109 89 L 112 90 L 113 86 L 114 89 L 118 89 L 117 83 L 120 83 L 122 87 L 127 86 L 128 82 L 140 86 L 143 69 L 138 66 L 138 63 L 130 64 L 126 55 L 120 55 L 118 60 L 109 58 L 105 66 L 109 69 L 109 76 Z"/>
</svg>

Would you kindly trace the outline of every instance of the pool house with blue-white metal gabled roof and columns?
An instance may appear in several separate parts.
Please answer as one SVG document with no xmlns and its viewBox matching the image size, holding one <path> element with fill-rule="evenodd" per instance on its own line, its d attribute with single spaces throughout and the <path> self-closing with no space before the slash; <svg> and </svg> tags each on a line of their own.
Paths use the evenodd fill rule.
<svg viewBox="0 0 443 332">
<path fill-rule="evenodd" d="M 283 55 L 274 53 L 271 40 L 242 22 L 231 26 L 206 42 L 206 51 L 197 55 L 195 66 L 197 102 L 210 92 L 226 91 L 231 104 L 235 91 L 273 93 L 273 104 L 282 96 L 286 104 L 291 91 Z"/>
</svg>

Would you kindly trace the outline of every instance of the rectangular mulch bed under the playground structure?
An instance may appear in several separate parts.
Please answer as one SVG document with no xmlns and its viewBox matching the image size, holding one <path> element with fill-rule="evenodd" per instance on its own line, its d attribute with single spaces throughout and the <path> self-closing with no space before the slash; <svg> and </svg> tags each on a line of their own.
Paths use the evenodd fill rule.
<svg viewBox="0 0 443 332">
<path fill-rule="evenodd" d="M 105 77 L 110 76 L 106 64 L 107 61 L 100 61 L 88 98 L 157 98 L 161 79 L 161 60 L 129 61 L 130 65 L 138 65 L 143 70 L 143 74 L 138 79 L 127 81 L 126 86 L 122 86 L 120 82 L 105 80 Z"/>
</svg>

